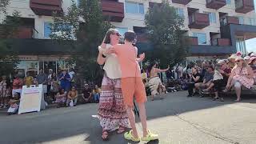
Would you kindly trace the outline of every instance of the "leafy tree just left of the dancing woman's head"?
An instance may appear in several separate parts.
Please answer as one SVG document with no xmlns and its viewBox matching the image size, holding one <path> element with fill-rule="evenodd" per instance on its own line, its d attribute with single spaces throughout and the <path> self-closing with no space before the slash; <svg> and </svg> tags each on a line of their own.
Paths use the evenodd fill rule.
<svg viewBox="0 0 256 144">
<path fill-rule="evenodd" d="M 110 27 L 110 23 L 104 21 L 99 0 L 82 0 L 79 6 L 72 1 L 67 14 L 54 15 L 50 37 L 81 52 L 68 62 L 75 64 L 75 69 L 87 80 L 99 82 L 102 70 L 96 62 L 98 46 Z"/>
</svg>

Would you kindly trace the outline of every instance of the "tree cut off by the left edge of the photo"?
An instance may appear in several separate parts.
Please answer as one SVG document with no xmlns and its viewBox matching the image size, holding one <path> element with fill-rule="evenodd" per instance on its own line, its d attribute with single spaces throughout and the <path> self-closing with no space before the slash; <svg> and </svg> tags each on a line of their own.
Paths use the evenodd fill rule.
<svg viewBox="0 0 256 144">
<path fill-rule="evenodd" d="M 18 57 L 11 50 L 12 40 L 14 34 L 18 31 L 20 23 L 20 14 L 14 11 L 11 17 L 7 17 L 6 6 L 9 0 L 1 0 L 0 15 L 4 16 L 0 22 L 0 75 L 10 74 L 18 64 Z"/>
</svg>

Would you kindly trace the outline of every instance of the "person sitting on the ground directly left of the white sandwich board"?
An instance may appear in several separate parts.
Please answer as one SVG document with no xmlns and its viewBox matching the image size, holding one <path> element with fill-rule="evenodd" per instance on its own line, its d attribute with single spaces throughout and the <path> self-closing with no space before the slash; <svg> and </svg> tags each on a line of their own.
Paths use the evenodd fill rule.
<svg viewBox="0 0 256 144">
<path fill-rule="evenodd" d="M 9 115 L 18 113 L 19 102 L 20 102 L 20 95 L 18 93 L 15 93 L 13 98 L 11 98 L 9 102 L 10 108 L 7 111 Z"/>
</svg>

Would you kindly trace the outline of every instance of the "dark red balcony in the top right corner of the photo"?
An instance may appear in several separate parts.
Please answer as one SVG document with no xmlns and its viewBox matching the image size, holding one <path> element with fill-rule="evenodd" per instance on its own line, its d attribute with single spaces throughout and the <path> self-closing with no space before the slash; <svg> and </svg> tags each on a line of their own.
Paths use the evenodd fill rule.
<svg viewBox="0 0 256 144">
<path fill-rule="evenodd" d="M 235 12 L 246 14 L 254 10 L 254 0 L 235 0 Z"/>
</svg>

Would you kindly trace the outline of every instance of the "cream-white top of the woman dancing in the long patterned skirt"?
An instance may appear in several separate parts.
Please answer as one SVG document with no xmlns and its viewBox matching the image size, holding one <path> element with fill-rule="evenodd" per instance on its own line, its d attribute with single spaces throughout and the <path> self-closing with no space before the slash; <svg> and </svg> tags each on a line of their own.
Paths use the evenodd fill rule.
<svg viewBox="0 0 256 144">
<path fill-rule="evenodd" d="M 106 44 L 106 49 L 110 48 L 110 44 Z M 105 53 L 106 49 L 98 47 L 98 50 L 102 50 L 103 54 Z M 116 54 L 104 54 L 106 55 L 105 65 L 103 70 L 106 72 L 106 76 L 111 79 L 118 79 L 121 78 L 121 67 L 118 62 L 118 57 Z"/>
</svg>

